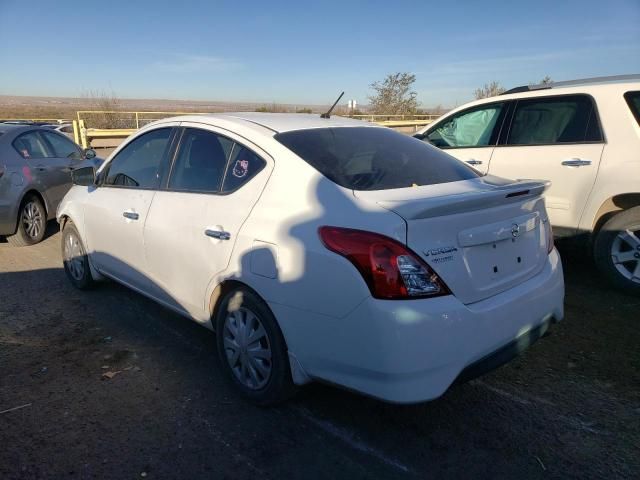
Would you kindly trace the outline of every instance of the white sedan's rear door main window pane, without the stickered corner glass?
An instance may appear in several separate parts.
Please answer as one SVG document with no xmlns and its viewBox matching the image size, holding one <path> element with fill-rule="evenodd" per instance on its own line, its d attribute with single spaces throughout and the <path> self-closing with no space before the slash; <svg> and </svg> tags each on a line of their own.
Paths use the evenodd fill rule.
<svg viewBox="0 0 640 480">
<path fill-rule="evenodd" d="M 172 190 L 220 192 L 233 141 L 205 130 L 188 128 L 169 178 Z"/>
</svg>

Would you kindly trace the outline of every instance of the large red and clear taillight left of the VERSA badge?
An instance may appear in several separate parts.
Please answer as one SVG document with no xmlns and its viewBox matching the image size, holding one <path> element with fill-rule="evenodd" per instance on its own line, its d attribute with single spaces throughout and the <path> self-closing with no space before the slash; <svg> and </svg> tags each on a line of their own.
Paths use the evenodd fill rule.
<svg viewBox="0 0 640 480">
<path fill-rule="evenodd" d="M 320 227 L 318 232 L 325 247 L 358 269 L 375 298 L 399 300 L 450 293 L 420 257 L 392 238 L 340 227 Z"/>
</svg>

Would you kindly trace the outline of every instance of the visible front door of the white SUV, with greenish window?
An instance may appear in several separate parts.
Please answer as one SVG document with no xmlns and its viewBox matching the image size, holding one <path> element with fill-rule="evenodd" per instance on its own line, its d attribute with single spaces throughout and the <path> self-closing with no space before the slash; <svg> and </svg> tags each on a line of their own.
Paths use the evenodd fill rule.
<svg viewBox="0 0 640 480">
<path fill-rule="evenodd" d="M 503 101 L 462 110 L 428 129 L 423 140 L 486 173 L 506 109 Z"/>
</svg>

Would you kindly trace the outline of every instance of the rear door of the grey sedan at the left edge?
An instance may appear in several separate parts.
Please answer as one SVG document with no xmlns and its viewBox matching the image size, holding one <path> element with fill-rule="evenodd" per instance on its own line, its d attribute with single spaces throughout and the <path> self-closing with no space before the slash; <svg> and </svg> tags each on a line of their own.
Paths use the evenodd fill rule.
<svg viewBox="0 0 640 480">
<path fill-rule="evenodd" d="M 27 161 L 29 176 L 47 199 L 49 214 L 54 215 L 71 186 L 69 160 L 57 157 L 42 133 L 38 130 L 23 133 L 13 141 L 13 146 Z"/>
</svg>

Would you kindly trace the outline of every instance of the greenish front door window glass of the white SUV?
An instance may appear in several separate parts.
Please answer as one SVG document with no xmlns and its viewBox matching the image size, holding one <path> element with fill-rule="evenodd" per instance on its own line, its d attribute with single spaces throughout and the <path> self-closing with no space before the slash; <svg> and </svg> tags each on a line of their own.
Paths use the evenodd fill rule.
<svg viewBox="0 0 640 480">
<path fill-rule="evenodd" d="M 497 103 L 457 113 L 430 131 L 426 139 L 439 148 L 494 145 L 494 130 L 503 108 L 504 103 Z"/>
</svg>

